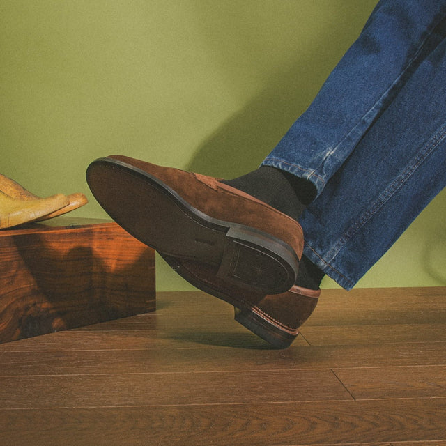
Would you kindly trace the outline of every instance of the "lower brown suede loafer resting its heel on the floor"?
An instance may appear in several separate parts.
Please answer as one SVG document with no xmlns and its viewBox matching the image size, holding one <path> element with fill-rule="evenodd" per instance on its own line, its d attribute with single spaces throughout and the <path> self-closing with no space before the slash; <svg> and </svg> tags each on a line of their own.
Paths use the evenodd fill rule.
<svg viewBox="0 0 446 446">
<path fill-rule="evenodd" d="M 321 290 L 293 285 L 284 293 L 249 293 L 217 277 L 212 266 L 162 255 L 165 261 L 197 288 L 226 300 L 235 308 L 235 319 L 276 348 L 288 347 L 298 328 L 312 314 Z"/>
</svg>

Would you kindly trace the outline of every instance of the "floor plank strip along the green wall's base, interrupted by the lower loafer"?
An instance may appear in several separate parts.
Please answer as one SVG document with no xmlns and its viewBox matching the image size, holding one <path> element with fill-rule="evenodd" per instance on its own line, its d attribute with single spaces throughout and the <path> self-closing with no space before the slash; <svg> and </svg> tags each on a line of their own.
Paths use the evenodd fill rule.
<svg viewBox="0 0 446 446">
<path fill-rule="evenodd" d="M 231 312 L 226 302 L 201 291 L 158 292 L 157 304 L 157 309 L 169 309 L 170 314 Z M 445 314 L 446 286 L 323 289 L 305 325 L 383 325 L 407 320 L 408 323 L 444 323 Z"/>
</svg>

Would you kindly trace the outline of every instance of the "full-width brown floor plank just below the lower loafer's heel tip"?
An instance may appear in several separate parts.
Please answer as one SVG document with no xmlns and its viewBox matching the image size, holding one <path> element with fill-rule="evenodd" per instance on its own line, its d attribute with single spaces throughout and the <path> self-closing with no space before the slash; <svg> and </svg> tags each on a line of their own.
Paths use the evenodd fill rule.
<svg viewBox="0 0 446 446">
<path fill-rule="evenodd" d="M 177 346 L 180 345 L 176 344 Z M 445 365 L 446 343 L 295 346 L 278 351 L 222 346 L 115 351 L 5 352 L 0 376 L 174 371 L 296 370 Z"/>
</svg>

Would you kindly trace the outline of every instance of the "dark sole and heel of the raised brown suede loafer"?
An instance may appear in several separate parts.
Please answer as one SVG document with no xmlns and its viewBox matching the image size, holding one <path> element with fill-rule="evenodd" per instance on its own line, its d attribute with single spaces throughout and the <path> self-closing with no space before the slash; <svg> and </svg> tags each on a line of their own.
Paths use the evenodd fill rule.
<svg viewBox="0 0 446 446">
<path fill-rule="evenodd" d="M 125 162 L 95 160 L 86 179 L 109 216 L 158 252 L 217 266 L 217 277 L 252 291 L 277 294 L 293 286 L 299 259 L 282 240 L 210 217 L 158 178 Z"/>
</svg>

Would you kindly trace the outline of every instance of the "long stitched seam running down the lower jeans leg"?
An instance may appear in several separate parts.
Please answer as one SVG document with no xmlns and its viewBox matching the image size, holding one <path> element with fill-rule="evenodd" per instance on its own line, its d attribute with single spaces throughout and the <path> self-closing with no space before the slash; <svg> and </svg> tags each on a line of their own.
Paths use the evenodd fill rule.
<svg viewBox="0 0 446 446">
<path fill-rule="evenodd" d="M 418 167 L 426 160 L 429 155 L 436 149 L 438 144 L 440 144 L 443 139 L 446 137 L 446 123 L 443 124 L 438 132 L 433 134 L 433 137 L 429 139 L 429 141 L 424 145 L 422 150 L 417 153 L 417 155 L 411 160 L 409 164 L 407 164 L 406 168 L 401 171 L 401 174 L 395 178 L 395 180 L 388 185 L 385 190 L 378 196 L 378 198 L 371 203 L 370 208 L 364 212 L 360 219 L 357 220 L 347 231 L 344 232 L 344 235 L 339 238 L 338 243 L 336 243 L 332 249 L 327 253 L 327 257 L 331 260 L 334 259 L 335 256 L 339 253 L 339 251 L 346 245 L 348 240 L 350 240 L 357 231 L 360 230 L 364 224 L 366 224 L 371 217 L 374 217 L 376 213 L 382 208 L 387 201 L 407 182 L 410 176 L 417 170 Z"/>
</svg>

